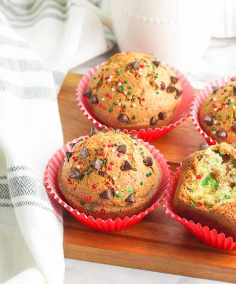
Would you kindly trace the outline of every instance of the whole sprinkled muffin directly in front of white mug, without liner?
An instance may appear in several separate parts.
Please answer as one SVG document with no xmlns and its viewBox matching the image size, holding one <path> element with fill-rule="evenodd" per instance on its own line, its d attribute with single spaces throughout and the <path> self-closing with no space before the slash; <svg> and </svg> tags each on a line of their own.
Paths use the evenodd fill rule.
<svg viewBox="0 0 236 284">
<path fill-rule="evenodd" d="M 161 61 L 148 54 L 126 52 L 102 65 L 83 96 L 106 126 L 140 130 L 168 125 L 181 93 L 179 78 Z"/>
</svg>

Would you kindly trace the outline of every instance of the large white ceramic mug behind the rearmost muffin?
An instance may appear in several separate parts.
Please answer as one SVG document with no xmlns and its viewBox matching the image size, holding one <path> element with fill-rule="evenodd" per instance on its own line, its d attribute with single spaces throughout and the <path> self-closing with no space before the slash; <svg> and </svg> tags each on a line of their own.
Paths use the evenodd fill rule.
<svg viewBox="0 0 236 284">
<path fill-rule="evenodd" d="M 111 0 L 113 31 L 121 51 L 152 53 L 186 72 L 207 48 L 213 0 Z"/>
</svg>

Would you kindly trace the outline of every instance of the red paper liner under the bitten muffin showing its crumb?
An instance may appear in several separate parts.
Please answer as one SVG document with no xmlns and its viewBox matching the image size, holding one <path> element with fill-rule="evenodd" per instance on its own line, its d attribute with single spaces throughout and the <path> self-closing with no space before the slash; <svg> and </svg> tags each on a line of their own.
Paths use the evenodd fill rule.
<svg viewBox="0 0 236 284">
<path fill-rule="evenodd" d="M 187 228 L 191 233 L 193 233 L 207 245 L 223 250 L 236 250 L 236 242 L 233 242 L 232 237 L 226 237 L 224 233 L 217 233 L 217 230 L 215 229 L 210 230 L 208 226 L 203 227 L 200 223 L 195 224 L 192 220 L 188 221 L 186 218 L 182 218 L 175 213 L 173 199 L 180 177 L 180 172 L 181 167 L 178 167 L 171 179 L 170 187 L 167 190 L 167 195 L 164 196 L 165 204 L 163 207 L 166 208 L 166 214 L 181 223 L 185 228 Z"/>
</svg>

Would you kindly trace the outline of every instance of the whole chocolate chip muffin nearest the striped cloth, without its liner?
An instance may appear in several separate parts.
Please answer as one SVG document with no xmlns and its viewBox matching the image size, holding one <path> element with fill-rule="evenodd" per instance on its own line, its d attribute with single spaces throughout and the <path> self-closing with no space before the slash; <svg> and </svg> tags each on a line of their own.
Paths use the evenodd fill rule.
<svg viewBox="0 0 236 284">
<path fill-rule="evenodd" d="M 151 205 L 162 172 L 135 135 L 92 127 L 89 137 L 72 147 L 57 180 L 74 209 L 106 220 L 131 217 Z"/>
</svg>

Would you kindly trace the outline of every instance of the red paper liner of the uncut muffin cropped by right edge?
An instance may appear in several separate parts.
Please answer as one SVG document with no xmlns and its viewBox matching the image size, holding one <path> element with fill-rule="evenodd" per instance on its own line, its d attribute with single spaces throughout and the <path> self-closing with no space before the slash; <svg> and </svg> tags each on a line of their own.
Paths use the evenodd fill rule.
<svg viewBox="0 0 236 284">
<path fill-rule="evenodd" d="M 195 125 L 198 132 L 206 139 L 209 145 L 217 144 L 216 140 L 213 140 L 210 136 L 208 136 L 204 130 L 202 129 L 200 122 L 199 122 L 199 111 L 203 101 L 213 92 L 213 86 L 221 87 L 222 85 L 231 82 L 231 77 L 223 77 L 221 79 L 215 80 L 208 85 L 205 86 L 201 91 L 196 94 L 196 97 L 192 103 L 191 107 L 191 120 Z"/>
</svg>

